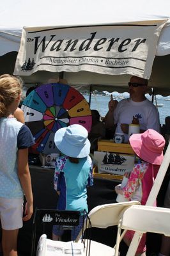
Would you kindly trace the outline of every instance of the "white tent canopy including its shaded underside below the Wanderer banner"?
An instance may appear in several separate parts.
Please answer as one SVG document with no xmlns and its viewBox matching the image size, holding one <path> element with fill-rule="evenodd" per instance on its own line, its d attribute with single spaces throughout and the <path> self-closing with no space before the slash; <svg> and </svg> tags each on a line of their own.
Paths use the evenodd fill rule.
<svg viewBox="0 0 170 256">
<path fill-rule="evenodd" d="M 43 26 L 86 26 L 108 25 L 120 22 L 137 22 L 143 20 L 169 19 L 170 1 L 162 0 L 65 0 L 44 1 L 6 0 L 0 10 L 0 72 L 13 72 L 16 53 L 19 51 L 22 28 Z M 3 56 L 6 54 L 5 56 Z M 149 84 L 155 87 L 155 92 L 162 95 L 170 94 L 170 20 L 162 29 L 157 43 L 156 58 Z M 9 71 L 8 71 L 9 70 Z M 59 74 L 38 71 L 24 77 L 26 83 L 47 83 L 51 77 Z M 65 72 L 68 84 L 98 84 L 120 86 L 123 91 L 127 86 L 128 75 L 111 76 L 93 72 Z M 103 86 L 101 86 L 102 90 Z M 157 89 L 158 88 L 158 89 Z M 108 88 L 110 92 L 115 88 Z M 125 90 L 124 90 L 125 91 Z"/>
</svg>

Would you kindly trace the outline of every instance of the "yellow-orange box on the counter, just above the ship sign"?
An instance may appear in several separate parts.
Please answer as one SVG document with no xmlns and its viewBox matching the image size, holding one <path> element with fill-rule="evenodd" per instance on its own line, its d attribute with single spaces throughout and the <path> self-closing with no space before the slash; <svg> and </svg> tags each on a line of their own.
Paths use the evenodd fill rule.
<svg viewBox="0 0 170 256">
<path fill-rule="evenodd" d="M 113 140 L 98 140 L 98 151 L 134 154 L 128 143 L 114 143 Z"/>
</svg>

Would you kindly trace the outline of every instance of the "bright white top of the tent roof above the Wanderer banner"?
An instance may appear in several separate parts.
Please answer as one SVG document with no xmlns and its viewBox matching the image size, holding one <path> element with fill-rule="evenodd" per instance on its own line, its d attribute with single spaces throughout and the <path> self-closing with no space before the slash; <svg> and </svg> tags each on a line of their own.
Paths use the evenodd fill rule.
<svg viewBox="0 0 170 256">
<path fill-rule="evenodd" d="M 77 26 L 169 19 L 169 0 L 6 0 L 0 9 L 0 55 L 19 51 L 23 26 Z M 170 53 L 170 20 L 157 55 Z"/>
</svg>

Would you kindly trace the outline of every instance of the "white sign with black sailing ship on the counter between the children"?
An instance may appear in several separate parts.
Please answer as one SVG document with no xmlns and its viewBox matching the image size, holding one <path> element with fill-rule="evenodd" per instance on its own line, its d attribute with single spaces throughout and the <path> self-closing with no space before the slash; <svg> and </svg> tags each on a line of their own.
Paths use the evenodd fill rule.
<svg viewBox="0 0 170 256">
<path fill-rule="evenodd" d="M 134 155 L 95 151 L 94 160 L 97 162 L 98 173 L 124 175 L 134 167 Z"/>
</svg>

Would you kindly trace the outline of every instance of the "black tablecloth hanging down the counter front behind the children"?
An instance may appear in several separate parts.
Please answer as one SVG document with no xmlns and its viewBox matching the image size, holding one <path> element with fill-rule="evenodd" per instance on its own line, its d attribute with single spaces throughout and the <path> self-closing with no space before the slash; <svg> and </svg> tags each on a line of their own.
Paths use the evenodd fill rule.
<svg viewBox="0 0 170 256">
<path fill-rule="evenodd" d="M 58 200 L 58 195 L 53 188 L 53 176 L 54 169 L 45 169 L 40 166 L 29 166 L 31 173 L 31 181 L 33 186 L 33 197 L 34 197 L 34 209 L 38 207 L 39 209 L 56 209 L 56 204 Z M 166 182 L 167 183 L 167 182 Z M 89 211 L 101 204 L 111 204 L 115 202 L 116 193 L 114 192 L 114 186 L 118 184 L 116 180 L 107 179 L 94 179 L 94 186 L 88 188 L 88 207 Z M 165 186 L 162 186 L 163 193 L 160 191 L 159 204 L 162 206 L 162 198 L 164 198 Z M 31 241 L 32 241 L 32 228 L 33 228 L 33 218 L 31 220 L 24 222 L 24 227 L 19 230 L 19 255 L 28 256 L 31 251 Z M 42 230 L 37 230 L 37 237 L 41 235 Z M 109 246 L 114 246 L 116 240 L 116 227 L 109 227 L 105 229 L 92 228 L 91 238 L 95 241 L 107 244 Z M 47 234 L 48 233 L 48 234 Z M 47 230 L 47 235 L 51 239 L 51 229 Z M 155 236 L 155 235 L 154 235 Z M 38 237 L 38 238 L 39 238 Z M 152 251 L 151 241 L 156 239 L 154 248 L 160 244 L 160 237 L 153 238 L 148 234 L 148 248 Z M 122 243 L 121 243 L 122 244 Z M 123 249 L 121 255 L 125 255 L 125 245 L 121 245 Z M 158 250 L 158 249 L 157 249 Z M 156 250 L 156 251 L 157 251 Z"/>
</svg>

